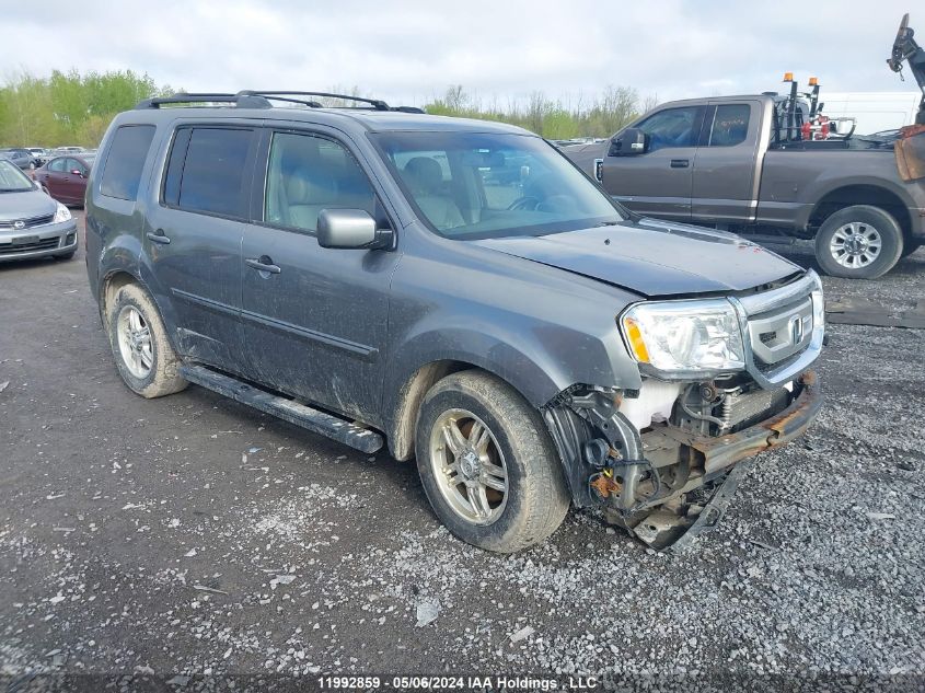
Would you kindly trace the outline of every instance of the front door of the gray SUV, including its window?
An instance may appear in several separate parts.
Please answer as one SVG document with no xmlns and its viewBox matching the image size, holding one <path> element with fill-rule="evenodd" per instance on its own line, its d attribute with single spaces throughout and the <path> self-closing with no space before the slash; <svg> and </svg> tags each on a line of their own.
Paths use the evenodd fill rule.
<svg viewBox="0 0 925 693">
<path fill-rule="evenodd" d="M 244 349 L 261 382 L 374 424 L 398 253 L 319 245 L 322 209 L 365 209 L 389 223 L 357 157 L 332 132 L 263 134 L 266 181 L 244 231 Z"/>
</svg>

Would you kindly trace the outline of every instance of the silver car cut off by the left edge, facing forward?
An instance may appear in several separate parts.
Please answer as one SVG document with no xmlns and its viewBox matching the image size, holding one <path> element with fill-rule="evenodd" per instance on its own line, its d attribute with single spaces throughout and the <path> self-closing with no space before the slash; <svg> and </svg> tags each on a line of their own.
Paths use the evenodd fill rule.
<svg viewBox="0 0 925 693">
<path fill-rule="evenodd" d="M 0 159 L 0 263 L 73 257 L 77 222 L 19 168 Z"/>
</svg>

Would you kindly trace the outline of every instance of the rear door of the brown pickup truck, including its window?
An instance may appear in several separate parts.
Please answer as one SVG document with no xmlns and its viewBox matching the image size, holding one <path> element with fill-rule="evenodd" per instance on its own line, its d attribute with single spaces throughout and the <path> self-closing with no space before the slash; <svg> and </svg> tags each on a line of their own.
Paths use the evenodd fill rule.
<svg viewBox="0 0 925 693">
<path fill-rule="evenodd" d="M 693 162 L 691 216 L 695 221 L 750 221 L 758 208 L 760 101 L 707 102 Z"/>
</svg>

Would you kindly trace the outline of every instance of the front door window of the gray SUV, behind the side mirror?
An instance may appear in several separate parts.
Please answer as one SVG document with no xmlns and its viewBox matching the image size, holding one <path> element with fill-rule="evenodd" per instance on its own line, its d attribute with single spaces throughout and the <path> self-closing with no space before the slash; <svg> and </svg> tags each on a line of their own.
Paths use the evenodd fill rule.
<svg viewBox="0 0 925 693">
<path fill-rule="evenodd" d="M 315 231 L 322 209 L 363 209 L 373 217 L 375 193 L 342 145 L 324 137 L 275 132 L 269 150 L 264 219 Z"/>
</svg>

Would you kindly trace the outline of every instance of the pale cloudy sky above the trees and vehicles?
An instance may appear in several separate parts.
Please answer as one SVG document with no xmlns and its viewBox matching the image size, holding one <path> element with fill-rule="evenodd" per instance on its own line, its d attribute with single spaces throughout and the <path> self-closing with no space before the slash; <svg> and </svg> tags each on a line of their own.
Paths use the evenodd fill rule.
<svg viewBox="0 0 925 693">
<path fill-rule="evenodd" d="M 406 104 L 453 83 L 486 102 L 535 90 L 575 101 L 609 84 L 666 101 L 777 89 L 785 70 L 830 91 L 914 91 L 884 60 L 903 12 L 925 37 L 911 0 L 0 4 L 0 79 L 128 68 L 187 91 L 357 85 Z"/>
</svg>

